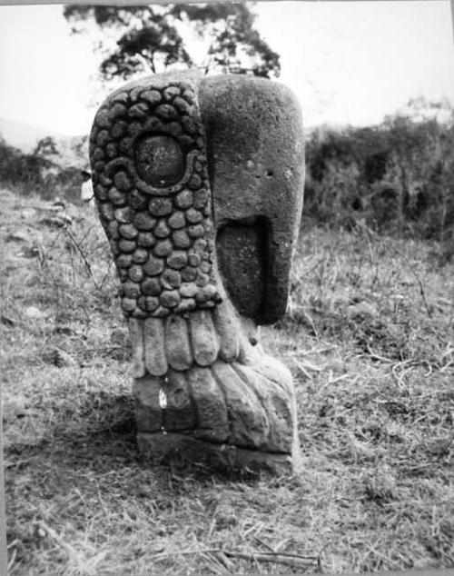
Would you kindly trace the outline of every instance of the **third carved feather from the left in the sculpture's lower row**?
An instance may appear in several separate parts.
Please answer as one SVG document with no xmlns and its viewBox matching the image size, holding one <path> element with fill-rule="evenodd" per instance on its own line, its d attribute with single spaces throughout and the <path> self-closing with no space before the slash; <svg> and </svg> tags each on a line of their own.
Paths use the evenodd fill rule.
<svg viewBox="0 0 454 576">
<path fill-rule="evenodd" d="M 194 436 L 208 442 L 226 442 L 229 438 L 227 406 L 211 369 L 194 366 L 187 372 L 187 378 L 198 420 Z"/>
</svg>

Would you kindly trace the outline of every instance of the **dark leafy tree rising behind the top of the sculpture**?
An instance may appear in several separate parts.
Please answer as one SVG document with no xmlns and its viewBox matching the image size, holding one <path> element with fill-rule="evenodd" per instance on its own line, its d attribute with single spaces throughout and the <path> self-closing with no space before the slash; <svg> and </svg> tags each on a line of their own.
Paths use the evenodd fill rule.
<svg viewBox="0 0 454 576">
<path fill-rule="evenodd" d="M 67 5 L 64 17 L 74 34 L 90 25 L 104 33 L 97 44 L 104 80 L 181 65 L 205 74 L 280 74 L 280 56 L 254 28 L 255 15 L 245 4 Z M 191 36 L 205 47 L 202 59 L 191 50 Z"/>
</svg>

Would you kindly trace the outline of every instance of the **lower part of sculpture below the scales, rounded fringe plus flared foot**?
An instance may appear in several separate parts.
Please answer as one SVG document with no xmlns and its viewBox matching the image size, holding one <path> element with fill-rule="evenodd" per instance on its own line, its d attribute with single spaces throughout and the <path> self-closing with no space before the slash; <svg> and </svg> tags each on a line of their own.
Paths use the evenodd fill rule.
<svg viewBox="0 0 454 576">
<path fill-rule="evenodd" d="M 184 283 L 180 295 L 184 289 L 190 296 L 194 288 Z M 147 291 L 153 293 L 153 287 Z M 154 309 L 157 298 L 147 300 Z M 136 422 L 138 432 L 148 434 L 147 451 L 162 445 L 163 431 L 184 431 L 186 439 L 208 442 L 211 451 L 221 444 L 252 451 L 262 468 L 277 457 L 282 465 L 275 472 L 291 472 L 298 454 L 291 374 L 262 353 L 253 323 L 242 325 L 224 302 L 187 316 L 174 312 L 129 323 Z M 181 450 L 182 442 L 177 442 Z"/>
</svg>

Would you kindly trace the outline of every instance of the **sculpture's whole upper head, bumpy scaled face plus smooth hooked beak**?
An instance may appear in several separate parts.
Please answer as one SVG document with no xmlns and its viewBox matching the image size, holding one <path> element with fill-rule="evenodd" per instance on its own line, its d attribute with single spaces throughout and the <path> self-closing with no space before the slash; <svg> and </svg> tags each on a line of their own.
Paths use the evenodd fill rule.
<svg viewBox="0 0 454 576">
<path fill-rule="evenodd" d="M 285 311 L 303 177 L 298 104 L 281 84 L 162 74 L 96 114 L 94 194 L 133 318 Z"/>
</svg>

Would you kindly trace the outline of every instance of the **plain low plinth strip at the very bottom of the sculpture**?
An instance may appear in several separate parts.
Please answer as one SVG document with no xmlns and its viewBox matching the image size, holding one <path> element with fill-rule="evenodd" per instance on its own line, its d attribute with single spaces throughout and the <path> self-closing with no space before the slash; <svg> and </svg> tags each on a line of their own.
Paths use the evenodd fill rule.
<svg viewBox="0 0 454 576">
<path fill-rule="evenodd" d="M 180 459 L 201 463 L 215 470 L 268 472 L 291 475 L 298 470 L 298 456 L 246 450 L 229 444 L 213 444 L 177 432 L 139 432 L 139 451 L 157 462 Z"/>
</svg>

